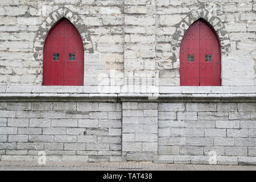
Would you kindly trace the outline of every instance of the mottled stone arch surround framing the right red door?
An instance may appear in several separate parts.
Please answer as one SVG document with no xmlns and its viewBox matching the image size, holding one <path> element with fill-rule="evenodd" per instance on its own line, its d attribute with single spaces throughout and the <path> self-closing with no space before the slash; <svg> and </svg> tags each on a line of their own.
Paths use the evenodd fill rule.
<svg viewBox="0 0 256 182">
<path fill-rule="evenodd" d="M 200 9 L 198 11 L 189 13 L 187 17 L 181 20 L 180 23 L 176 24 L 176 31 L 171 43 L 171 51 L 174 52 L 173 56 L 171 57 L 173 62 L 176 62 L 177 58 L 179 58 L 180 44 L 185 32 L 188 30 L 188 27 L 198 19 L 206 20 L 216 32 L 216 35 L 220 41 L 222 56 L 228 56 L 228 53 L 231 51 L 229 35 L 224 24 L 219 18 L 212 16 L 208 10 Z"/>
</svg>

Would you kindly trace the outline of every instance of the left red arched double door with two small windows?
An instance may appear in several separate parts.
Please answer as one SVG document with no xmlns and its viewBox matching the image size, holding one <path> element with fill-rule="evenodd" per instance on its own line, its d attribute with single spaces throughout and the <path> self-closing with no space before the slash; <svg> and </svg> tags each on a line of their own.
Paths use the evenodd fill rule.
<svg viewBox="0 0 256 182">
<path fill-rule="evenodd" d="M 43 85 L 84 85 L 84 45 L 68 19 L 49 31 L 43 56 Z"/>
</svg>

